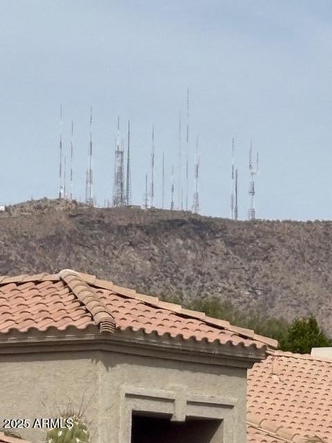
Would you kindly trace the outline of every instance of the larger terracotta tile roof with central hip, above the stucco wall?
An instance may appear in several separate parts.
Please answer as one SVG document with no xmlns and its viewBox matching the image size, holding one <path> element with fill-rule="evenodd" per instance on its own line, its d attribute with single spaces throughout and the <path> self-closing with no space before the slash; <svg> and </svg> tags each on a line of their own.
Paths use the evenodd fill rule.
<svg viewBox="0 0 332 443">
<path fill-rule="evenodd" d="M 216 344 L 277 347 L 277 341 L 250 329 L 136 293 L 94 275 L 66 269 L 52 275 L 0 277 L 0 335 L 13 329 L 85 329 L 89 325 L 98 325 L 100 332 L 131 329 Z"/>
</svg>

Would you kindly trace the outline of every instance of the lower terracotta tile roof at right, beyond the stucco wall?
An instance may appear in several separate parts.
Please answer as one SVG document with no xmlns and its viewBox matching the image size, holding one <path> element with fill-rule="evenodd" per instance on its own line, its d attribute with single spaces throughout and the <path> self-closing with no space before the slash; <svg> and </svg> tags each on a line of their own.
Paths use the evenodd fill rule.
<svg viewBox="0 0 332 443">
<path fill-rule="evenodd" d="M 247 400 L 248 442 L 302 443 L 306 436 L 331 442 L 331 360 L 271 352 L 248 371 Z"/>
</svg>

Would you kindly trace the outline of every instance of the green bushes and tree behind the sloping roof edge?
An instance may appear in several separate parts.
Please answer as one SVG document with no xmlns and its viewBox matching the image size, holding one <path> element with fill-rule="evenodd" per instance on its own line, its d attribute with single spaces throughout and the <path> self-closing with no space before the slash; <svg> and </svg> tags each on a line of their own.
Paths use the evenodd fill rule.
<svg viewBox="0 0 332 443">
<path fill-rule="evenodd" d="M 172 302 L 178 302 L 172 298 Z M 243 312 L 231 302 L 211 297 L 184 303 L 188 309 L 203 311 L 208 316 L 228 320 L 233 325 L 254 329 L 257 334 L 275 338 L 279 348 L 299 354 L 310 354 L 312 347 L 331 346 L 332 341 L 320 329 L 315 317 L 295 318 L 288 323 L 283 318 L 261 316 L 255 311 Z"/>
</svg>

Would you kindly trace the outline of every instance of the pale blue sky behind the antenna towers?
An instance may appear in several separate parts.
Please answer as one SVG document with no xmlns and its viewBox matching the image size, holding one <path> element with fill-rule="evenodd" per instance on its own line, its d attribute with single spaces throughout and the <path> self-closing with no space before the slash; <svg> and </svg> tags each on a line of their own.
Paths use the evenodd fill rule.
<svg viewBox="0 0 332 443">
<path fill-rule="evenodd" d="M 119 114 L 123 136 L 131 120 L 133 204 L 143 201 L 154 124 L 156 204 L 165 152 L 169 206 L 189 88 L 190 206 L 199 134 L 201 213 L 230 215 L 234 137 L 241 219 L 250 139 L 257 217 L 332 218 L 331 1 L 1 0 L 0 55 L 0 204 L 57 196 L 62 105 L 67 152 L 75 125 L 77 198 L 93 106 L 98 202 L 112 195 Z"/>
</svg>

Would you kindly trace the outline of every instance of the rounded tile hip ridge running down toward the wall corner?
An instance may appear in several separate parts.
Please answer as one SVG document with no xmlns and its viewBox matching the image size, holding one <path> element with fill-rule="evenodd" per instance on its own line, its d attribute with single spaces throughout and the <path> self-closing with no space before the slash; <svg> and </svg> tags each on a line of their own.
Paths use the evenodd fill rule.
<svg viewBox="0 0 332 443">
<path fill-rule="evenodd" d="M 78 300 L 90 312 L 93 320 L 99 326 L 100 332 L 115 331 L 116 320 L 107 309 L 107 306 L 95 294 L 90 284 L 81 277 L 80 273 L 72 269 L 63 269 L 59 272 L 59 278 L 64 280 Z"/>
</svg>

